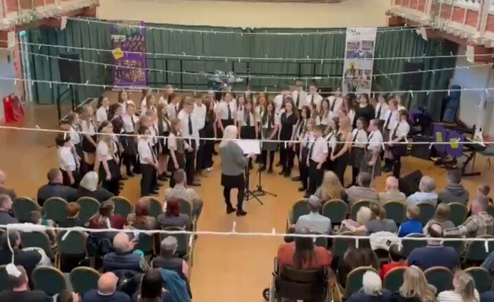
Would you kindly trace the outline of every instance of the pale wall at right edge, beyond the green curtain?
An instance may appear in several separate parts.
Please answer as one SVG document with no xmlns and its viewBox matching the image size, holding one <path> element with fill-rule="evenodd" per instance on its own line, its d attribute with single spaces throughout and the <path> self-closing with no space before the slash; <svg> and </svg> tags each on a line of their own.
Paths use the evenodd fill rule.
<svg viewBox="0 0 494 302">
<path fill-rule="evenodd" d="M 464 54 L 465 49 L 459 49 L 458 54 Z M 456 66 L 471 66 L 467 58 L 456 60 Z M 494 69 L 489 65 L 472 67 L 470 69 L 456 69 L 451 84 L 458 84 L 462 88 L 487 88 L 494 87 Z M 483 126 L 484 135 L 494 135 L 494 92 L 489 91 L 485 108 L 480 108 L 481 100 L 486 96 L 485 91 L 462 91 L 460 97 L 460 119 L 467 126 Z"/>
</svg>

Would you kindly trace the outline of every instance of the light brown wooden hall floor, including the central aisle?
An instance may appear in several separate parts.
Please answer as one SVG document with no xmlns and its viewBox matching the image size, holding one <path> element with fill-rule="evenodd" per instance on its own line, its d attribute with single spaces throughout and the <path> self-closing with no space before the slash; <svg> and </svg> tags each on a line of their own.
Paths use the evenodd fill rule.
<svg viewBox="0 0 494 302">
<path fill-rule="evenodd" d="M 27 117 L 22 126 L 56 128 L 56 108 L 54 106 L 28 106 Z M 36 196 L 43 185 L 46 172 L 57 167 L 56 149 L 47 148 L 54 144 L 53 133 L 29 132 L 0 129 L 0 169 L 7 175 L 7 187 L 15 189 L 19 196 Z M 294 183 L 277 174 L 263 174 L 264 189 L 278 194 L 277 198 L 262 198 L 264 205 L 257 201 L 246 202 L 248 215 L 243 218 L 226 216 L 220 187 L 220 159 L 215 158 L 215 170 L 202 179 L 198 193 L 204 200 L 204 209 L 198 230 L 231 231 L 233 222 L 237 222 L 238 232 L 271 232 L 285 230 L 285 221 L 292 203 L 301 198 L 298 183 Z M 445 183 L 445 172 L 438 167 L 428 168 L 430 163 L 419 159 L 403 160 L 403 175 L 416 169 L 423 174 L 436 178 L 438 188 Z M 476 166 L 483 170 L 482 176 L 467 178 L 463 184 L 472 192 L 483 181 L 491 183 L 493 170 L 486 170 L 484 159 L 478 159 Z M 346 179 L 348 180 L 349 170 Z M 257 176 L 251 174 L 253 186 Z M 377 189 L 384 187 L 384 178 L 376 182 Z M 163 196 L 163 187 L 161 196 Z M 139 198 L 139 176 L 127 181 L 122 196 L 134 201 Z M 277 237 L 245 236 L 200 236 L 196 242 L 193 267 L 191 268 L 191 286 L 193 301 L 263 301 L 261 292 L 269 286 L 272 261 L 277 247 L 281 244 Z"/>
</svg>

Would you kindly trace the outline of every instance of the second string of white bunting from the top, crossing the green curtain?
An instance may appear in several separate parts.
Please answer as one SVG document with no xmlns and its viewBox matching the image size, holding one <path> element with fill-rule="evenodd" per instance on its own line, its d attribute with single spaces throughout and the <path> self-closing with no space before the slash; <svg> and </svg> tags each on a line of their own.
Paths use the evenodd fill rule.
<svg viewBox="0 0 494 302">
<path fill-rule="evenodd" d="M 6 40 L 0 40 L 0 42 L 7 42 Z M 77 50 L 82 50 L 82 51 L 94 51 L 99 54 L 100 52 L 113 52 L 112 49 L 98 49 L 98 48 L 91 48 L 91 47 L 75 47 L 75 46 L 64 46 L 64 45 L 50 45 L 50 44 L 43 44 L 43 43 L 28 43 L 28 42 L 17 42 L 17 44 L 22 44 L 22 45 L 30 45 L 34 47 L 38 47 L 38 49 L 41 49 L 41 47 L 51 47 L 51 48 L 60 48 L 60 49 L 67 49 L 67 51 L 70 51 L 71 49 L 77 49 Z M 238 62 L 248 62 L 248 61 L 268 61 L 268 60 L 284 60 L 284 61 L 292 61 L 292 62 L 321 62 L 323 64 L 324 62 L 332 62 L 332 61 L 344 61 L 345 58 L 310 58 L 309 56 L 306 56 L 305 58 L 272 58 L 268 57 L 267 55 L 265 57 L 242 57 L 242 56 L 209 56 L 209 55 L 197 55 L 197 54 L 185 54 L 185 51 L 182 52 L 182 54 L 168 54 L 168 53 L 154 53 L 154 52 L 141 52 L 141 51 L 122 51 L 122 54 L 137 54 L 137 55 L 145 55 L 145 56 L 152 56 L 154 58 L 165 56 L 165 57 L 173 57 L 173 58 L 197 58 L 198 60 L 201 59 L 217 59 L 217 60 L 225 60 L 226 62 L 228 61 L 238 61 Z M 423 60 L 423 59 L 434 59 L 434 58 L 464 58 L 469 55 L 467 54 L 452 54 L 450 53 L 449 55 L 438 55 L 438 56 L 401 56 L 401 57 L 375 57 L 373 60 Z M 491 56 L 493 57 L 494 54 L 475 54 L 475 56 Z"/>
</svg>

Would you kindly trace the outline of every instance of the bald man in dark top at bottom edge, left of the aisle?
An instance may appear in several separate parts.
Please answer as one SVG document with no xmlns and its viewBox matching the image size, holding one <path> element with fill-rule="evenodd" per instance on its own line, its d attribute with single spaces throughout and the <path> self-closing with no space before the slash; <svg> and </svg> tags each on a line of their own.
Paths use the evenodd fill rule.
<svg viewBox="0 0 494 302">
<path fill-rule="evenodd" d="M 118 278 L 113 272 L 105 272 L 98 279 L 97 290 L 89 290 L 82 302 L 130 302 L 124 292 L 117 292 Z"/>
</svg>

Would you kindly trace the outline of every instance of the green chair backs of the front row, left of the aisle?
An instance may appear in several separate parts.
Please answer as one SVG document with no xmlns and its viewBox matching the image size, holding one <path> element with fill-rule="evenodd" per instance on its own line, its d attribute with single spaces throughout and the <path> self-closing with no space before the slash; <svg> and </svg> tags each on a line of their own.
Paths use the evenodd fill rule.
<svg viewBox="0 0 494 302">
<path fill-rule="evenodd" d="M 150 196 L 149 198 L 150 198 L 150 216 L 156 218 L 161 213 L 163 213 L 163 202 L 152 196 Z M 121 196 L 115 196 L 110 198 L 110 200 L 113 201 L 115 204 L 115 213 L 121 215 L 124 218 L 126 218 L 129 213 L 132 213 L 132 211 L 134 211 L 132 202 L 130 202 L 127 198 Z M 180 202 L 180 212 L 189 215 L 190 218 L 193 218 L 192 203 L 183 199 L 179 199 L 178 201 Z M 100 205 L 100 203 L 97 200 L 91 197 L 81 197 L 77 200 L 77 202 L 81 207 L 79 218 L 83 222 L 88 222 L 91 219 L 91 217 L 93 217 L 95 213 L 97 213 Z M 38 205 L 38 202 L 28 197 L 16 198 L 12 204 L 12 210 L 14 211 L 14 215 L 20 222 L 29 221 L 29 214 L 32 211 L 40 210 L 40 208 L 41 207 Z M 57 223 L 64 220 L 67 217 L 66 209 L 67 209 L 67 200 L 58 197 L 48 198 L 47 200 L 45 200 L 45 203 L 43 204 L 43 211 L 45 217 Z M 193 221 L 192 225 L 195 229 L 196 221 Z"/>
</svg>

